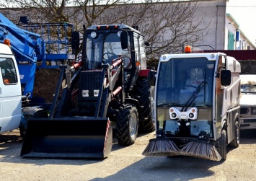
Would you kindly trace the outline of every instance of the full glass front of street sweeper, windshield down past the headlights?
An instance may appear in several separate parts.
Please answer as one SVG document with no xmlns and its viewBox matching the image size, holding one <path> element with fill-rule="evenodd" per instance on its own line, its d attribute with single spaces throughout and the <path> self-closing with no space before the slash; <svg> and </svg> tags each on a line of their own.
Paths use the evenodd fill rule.
<svg viewBox="0 0 256 181">
<path fill-rule="evenodd" d="M 160 63 L 156 82 L 156 129 L 165 137 L 213 138 L 215 61 L 171 58 Z"/>
</svg>

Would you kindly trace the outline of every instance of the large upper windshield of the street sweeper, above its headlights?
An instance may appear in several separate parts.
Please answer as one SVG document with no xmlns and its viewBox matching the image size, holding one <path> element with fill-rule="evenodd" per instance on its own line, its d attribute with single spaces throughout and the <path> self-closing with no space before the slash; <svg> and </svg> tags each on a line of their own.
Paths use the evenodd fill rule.
<svg viewBox="0 0 256 181">
<path fill-rule="evenodd" d="M 212 107 L 214 64 L 207 58 L 173 58 L 162 62 L 156 107 Z"/>
</svg>

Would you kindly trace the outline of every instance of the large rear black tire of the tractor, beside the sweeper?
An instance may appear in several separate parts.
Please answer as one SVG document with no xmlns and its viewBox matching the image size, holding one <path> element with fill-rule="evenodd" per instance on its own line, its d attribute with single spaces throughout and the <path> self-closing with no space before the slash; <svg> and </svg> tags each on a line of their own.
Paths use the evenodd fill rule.
<svg viewBox="0 0 256 181">
<path fill-rule="evenodd" d="M 155 130 L 153 120 L 154 94 L 153 87 L 149 86 L 147 77 L 138 77 L 136 85 L 133 89 L 133 95 L 140 103 L 140 116 L 138 131 L 151 133 Z"/>
</svg>

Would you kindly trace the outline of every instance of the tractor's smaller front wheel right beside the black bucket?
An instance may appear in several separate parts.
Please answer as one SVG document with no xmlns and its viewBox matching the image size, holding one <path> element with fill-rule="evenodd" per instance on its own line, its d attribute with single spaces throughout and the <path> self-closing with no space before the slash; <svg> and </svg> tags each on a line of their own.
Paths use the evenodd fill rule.
<svg viewBox="0 0 256 181">
<path fill-rule="evenodd" d="M 132 105 L 120 107 L 117 114 L 116 136 L 118 144 L 134 144 L 138 134 L 138 110 Z"/>
</svg>

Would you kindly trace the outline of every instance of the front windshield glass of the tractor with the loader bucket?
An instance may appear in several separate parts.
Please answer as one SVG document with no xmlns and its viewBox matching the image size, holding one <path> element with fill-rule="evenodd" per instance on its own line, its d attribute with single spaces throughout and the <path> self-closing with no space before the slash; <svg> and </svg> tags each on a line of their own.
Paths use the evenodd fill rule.
<svg viewBox="0 0 256 181">
<path fill-rule="evenodd" d="M 129 56 L 128 50 L 123 50 L 119 32 L 97 33 L 96 38 L 87 35 L 88 69 L 97 69 L 102 63 L 112 64 L 112 61 L 120 56 Z M 125 58 L 130 61 L 130 58 Z M 130 62 L 125 62 L 129 64 Z"/>
</svg>

